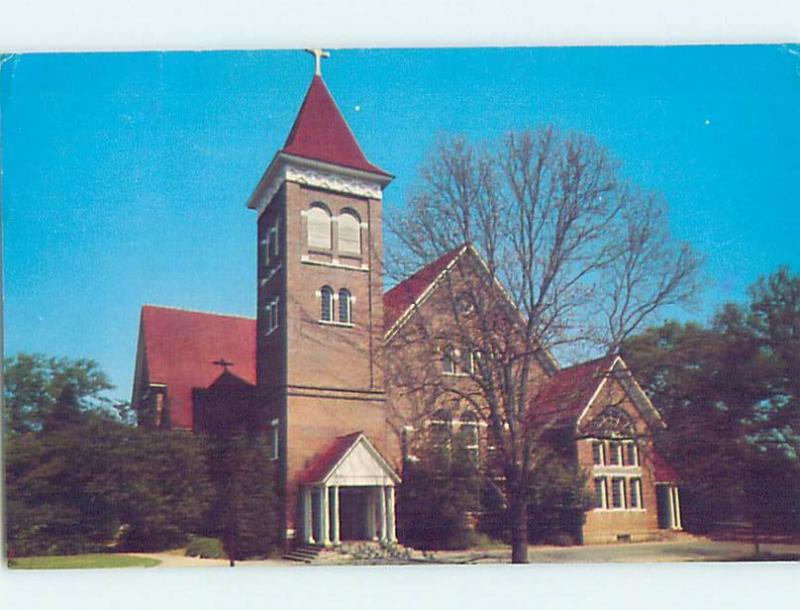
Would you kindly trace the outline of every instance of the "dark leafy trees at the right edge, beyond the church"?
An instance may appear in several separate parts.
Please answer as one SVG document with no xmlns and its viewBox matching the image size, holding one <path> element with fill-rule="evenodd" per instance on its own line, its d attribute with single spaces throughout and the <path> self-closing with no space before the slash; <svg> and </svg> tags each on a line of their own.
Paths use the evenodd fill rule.
<svg viewBox="0 0 800 610">
<path fill-rule="evenodd" d="M 800 278 L 762 278 L 708 326 L 668 322 L 624 346 L 668 428 L 659 450 L 683 478 L 685 524 L 746 518 L 800 529 Z"/>
</svg>

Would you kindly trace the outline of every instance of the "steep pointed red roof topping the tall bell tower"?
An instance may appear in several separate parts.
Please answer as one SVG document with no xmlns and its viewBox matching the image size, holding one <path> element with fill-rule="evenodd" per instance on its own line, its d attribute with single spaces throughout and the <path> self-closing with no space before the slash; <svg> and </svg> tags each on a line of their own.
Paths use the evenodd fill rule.
<svg viewBox="0 0 800 610">
<path fill-rule="evenodd" d="M 283 152 L 390 176 L 364 156 L 322 77 L 315 76 Z"/>
</svg>

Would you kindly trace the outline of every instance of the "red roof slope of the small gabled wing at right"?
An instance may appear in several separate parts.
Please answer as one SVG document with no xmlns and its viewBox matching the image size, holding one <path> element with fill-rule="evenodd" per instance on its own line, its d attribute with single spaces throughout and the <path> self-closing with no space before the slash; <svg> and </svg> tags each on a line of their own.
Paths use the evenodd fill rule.
<svg viewBox="0 0 800 610">
<path fill-rule="evenodd" d="M 563 368 L 539 390 L 531 410 L 535 424 L 566 423 L 580 417 L 616 356 L 604 356 Z"/>
</svg>

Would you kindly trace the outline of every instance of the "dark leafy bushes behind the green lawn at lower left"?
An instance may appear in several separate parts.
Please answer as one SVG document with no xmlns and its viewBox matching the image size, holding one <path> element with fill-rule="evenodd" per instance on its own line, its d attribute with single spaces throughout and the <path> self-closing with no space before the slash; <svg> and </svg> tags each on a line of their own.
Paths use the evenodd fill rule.
<svg viewBox="0 0 800 610">
<path fill-rule="evenodd" d="M 6 444 L 9 546 L 17 554 L 180 544 L 202 525 L 212 489 L 202 439 L 106 417 Z"/>
</svg>

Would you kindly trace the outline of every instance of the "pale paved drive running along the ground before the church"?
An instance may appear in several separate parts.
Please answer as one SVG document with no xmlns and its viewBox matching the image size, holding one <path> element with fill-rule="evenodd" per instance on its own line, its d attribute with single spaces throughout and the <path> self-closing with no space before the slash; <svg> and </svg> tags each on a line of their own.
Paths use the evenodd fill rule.
<svg viewBox="0 0 800 610">
<path fill-rule="evenodd" d="M 767 557 L 800 557 L 800 544 L 762 544 L 762 555 Z M 159 568 L 224 568 L 226 559 L 198 559 L 185 557 L 177 551 L 168 553 L 130 553 L 141 557 L 154 557 L 161 561 Z M 753 545 L 745 542 L 719 542 L 705 538 L 682 539 L 668 542 L 640 542 L 622 544 L 603 544 L 574 547 L 531 546 L 531 563 L 653 563 L 687 561 L 736 561 L 751 557 Z M 416 553 L 415 553 L 416 555 Z M 344 557 L 342 557 L 345 560 Z M 437 551 L 431 563 L 447 564 L 487 564 L 508 563 L 511 551 L 507 547 L 470 551 Z M 346 561 L 346 560 L 345 560 Z M 325 562 L 330 565 L 331 562 Z M 358 562 L 364 565 L 365 562 Z M 380 560 L 373 563 L 381 564 Z M 396 563 L 396 562 L 395 562 Z M 420 561 L 414 561 L 419 565 Z M 284 559 L 262 559 L 237 561 L 236 567 L 298 566 L 305 564 Z"/>
</svg>

